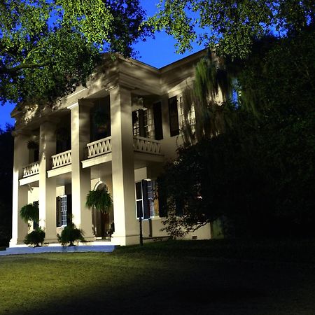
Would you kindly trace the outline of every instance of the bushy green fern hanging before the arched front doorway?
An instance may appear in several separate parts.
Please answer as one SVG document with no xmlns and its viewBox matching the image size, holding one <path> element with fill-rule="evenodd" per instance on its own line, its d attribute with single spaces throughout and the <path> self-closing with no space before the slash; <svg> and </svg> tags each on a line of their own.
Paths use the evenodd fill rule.
<svg viewBox="0 0 315 315">
<path fill-rule="evenodd" d="M 89 209 L 97 209 L 98 211 L 106 213 L 113 204 L 111 194 L 108 192 L 107 187 L 100 190 L 91 190 L 86 197 L 85 206 Z"/>
</svg>

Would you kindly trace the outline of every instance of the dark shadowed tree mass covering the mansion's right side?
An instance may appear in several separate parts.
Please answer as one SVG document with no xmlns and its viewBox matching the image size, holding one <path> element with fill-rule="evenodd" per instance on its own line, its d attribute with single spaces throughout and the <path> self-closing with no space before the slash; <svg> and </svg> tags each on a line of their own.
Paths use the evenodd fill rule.
<svg viewBox="0 0 315 315">
<path fill-rule="evenodd" d="M 165 169 L 170 233 L 225 216 L 237 236 L 314 235 L 314 52 L 314 27 L 255 43 L 225 112 L 232 127 L 180 148 Z"/>
</svg>

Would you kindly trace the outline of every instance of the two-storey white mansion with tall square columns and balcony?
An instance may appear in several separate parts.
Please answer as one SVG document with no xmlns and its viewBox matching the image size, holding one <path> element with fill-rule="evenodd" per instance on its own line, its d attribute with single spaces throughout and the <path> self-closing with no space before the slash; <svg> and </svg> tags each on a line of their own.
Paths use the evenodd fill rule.
<svg viewBox="0 0 315 315">
<path fill-rule="evenodd" d="M 144 237 L 166 236 L 156 179 L 183 143 L 181 94 L 204 54 L 162 69 L 105 57 L 87 87 L 78 87 L 55 108 L 15 109 L 10 247 L 23 244 L 31 229 L 20 209 L 34 202 L 48 244 L 57 243 L 70 216 L 87 241 L 97 242 L 114 228 L 112 244 L 138 244 L 140 216 Z M 190 118 L 193 124 L 194 113 Z M 112 209 L 107 214 L 87 209 L 87 193 L 104 185 L 113 198 Z M 186 237 L 209 239 L 210 225 Z"/>
</svg>

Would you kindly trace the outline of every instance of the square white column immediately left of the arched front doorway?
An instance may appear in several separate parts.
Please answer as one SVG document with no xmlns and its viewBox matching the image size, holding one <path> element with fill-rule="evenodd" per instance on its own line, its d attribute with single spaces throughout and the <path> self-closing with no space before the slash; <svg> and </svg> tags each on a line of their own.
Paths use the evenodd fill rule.
<svg viewBox="0 0 315 315">
<path fill-rule="evenodd" d="M 84 232 L 87 240 L 94 239 L 92 232 L 92 214 L 85 201 L 90 191 L 90 168 L 83 169 L 81 161 L 85 159 L 85 147 L 90 142 L 90 107 L 87 100 L 79 99 L 71 106 L 71 189 L 73 223 Z"/>
</svg>

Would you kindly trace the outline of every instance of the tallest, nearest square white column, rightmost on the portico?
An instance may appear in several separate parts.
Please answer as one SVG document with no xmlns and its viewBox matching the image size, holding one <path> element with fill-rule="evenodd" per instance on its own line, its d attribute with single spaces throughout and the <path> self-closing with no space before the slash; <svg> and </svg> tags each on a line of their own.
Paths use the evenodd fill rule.
<svg viewBox="0 0 315 315">
<path fill-rule="evenodd" d="M 113 177 L 113 242 L 139 244 L 139 223 L 134 193 L 134 150 L 131 93 L 115 87 L 111 97 L 111 147 Z"/>
</svg>

